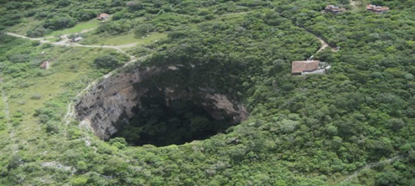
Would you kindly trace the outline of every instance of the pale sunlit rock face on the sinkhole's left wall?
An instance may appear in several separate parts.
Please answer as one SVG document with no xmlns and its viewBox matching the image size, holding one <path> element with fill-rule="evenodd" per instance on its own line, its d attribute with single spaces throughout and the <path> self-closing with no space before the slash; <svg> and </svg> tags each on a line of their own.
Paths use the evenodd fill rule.
<svg viewBox="0 0 415 186">
<path fill-rule="evenodd" d="M 156 68 L 147 68 L 140 72 L 121 72 L 102 80 L 75 106 L 77 118 L 89 125 L 96 136 L 108 139 L 117 132 L 113 123 L 118 121 L 121 114 L 132 116 L 131 108 L 139 104 L 140 92 L 134 90 L 133 83 L 158 71 Z"/>
</svg>

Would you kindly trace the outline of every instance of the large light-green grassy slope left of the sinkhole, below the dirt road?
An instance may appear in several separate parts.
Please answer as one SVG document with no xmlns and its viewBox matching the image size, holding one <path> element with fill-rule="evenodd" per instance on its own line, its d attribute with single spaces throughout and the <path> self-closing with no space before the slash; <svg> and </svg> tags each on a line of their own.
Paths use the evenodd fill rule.
<svg viewBox="0 0 415 186">
<path fill-rule="evenodd" d="M 64 115 L 68 103 L 87 83 L 97 79 L 99 70 L 93 68 L 93 60 L 100 54 L 113 52 L 105 48 L 71 48 L 71 47 L 44 47 L 45 45 L 33 46 L 31 42 L 24 39 L 16 39 L 13 48 L 9 48 L 6 54 L 25 52 L 30 49 L 30 56 L 39 58 L 41 52 L 46 52 L 43 59 L 49 59 L 50 68 L 41 70 L 37 65 L 28 65 L 24 74 L 13 76 L 5 74 L 1 86 L 6 87 L 8 94 L 8 105 L 12 128 L 7 126 L 3 114 L 3 100 L 0 99 L 0 150 L 8 152 L 13 150 L 22 157 L 35 157 L 36 161 L 47 161 L 53 159 L 62 152 L 56 147 L 66 147 L 66 123 Z M 11 43 L 13 44 L 13 43 Z M 1 62 L 0 62 L 1 63 Z M 1 96 L 1 95 L 0 95 Z M 48 106 L 49 105 L 49 106 Z M 53 116 L 59 117 L 61 122 L 52 123 L 59 132 L 46 132 L 45 123 L 39 123 L 42 116 L 34 116 L 35 110 L 45 109 L 53 105 Z M 17 121 L 17 122 L 16 122 Z M 10 131 L 13 138 L 10 139 Z M 18 151 L 17 151 L 18 149 Z M 1 154 L 1 153 L 0 153 Z M 7 153 L 0 156 L 0 161 L 8 157 Z M 34 158 L 30 158 L 34 161 Z M 3 163 L 4 164 L 4 163 Z M 0 184 L 1 185 L 1 184 Z"/>
</svg>

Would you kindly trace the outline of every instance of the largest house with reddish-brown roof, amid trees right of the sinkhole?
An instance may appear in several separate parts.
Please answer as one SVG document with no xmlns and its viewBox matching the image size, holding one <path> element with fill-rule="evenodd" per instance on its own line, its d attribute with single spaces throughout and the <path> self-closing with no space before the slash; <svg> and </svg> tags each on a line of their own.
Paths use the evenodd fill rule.
<svg viewBox="0 0 415 186">
<path fill-rule="evenodd" d="M 331 65 L 318 60 L 293 61 L 291 63 L 291 74 L 321 74 L 329 68 L 331 68 Z"/>
</svg>

